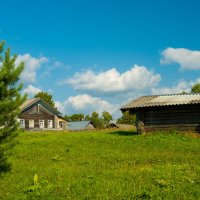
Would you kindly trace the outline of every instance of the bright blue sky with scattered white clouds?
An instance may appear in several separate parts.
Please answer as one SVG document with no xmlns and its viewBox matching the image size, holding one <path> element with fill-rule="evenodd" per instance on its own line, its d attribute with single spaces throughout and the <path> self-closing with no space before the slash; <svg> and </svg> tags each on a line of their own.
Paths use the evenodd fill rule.
<svg viewBox="0 0 200 200">
<path fill-rule="evenodd" d="M 23 93 L 63 114 L 111 112 L 200 82 L 199 0 L 0 0 L 0 40 L 25 62 Z"/>
</svg>

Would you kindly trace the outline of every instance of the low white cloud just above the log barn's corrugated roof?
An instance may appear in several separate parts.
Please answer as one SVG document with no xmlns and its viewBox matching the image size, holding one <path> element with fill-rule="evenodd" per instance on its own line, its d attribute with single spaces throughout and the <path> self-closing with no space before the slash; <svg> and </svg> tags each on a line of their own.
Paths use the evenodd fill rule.
<svg viewBox="0 0 200 200">
<path fill-rule="evenodd" d="M 178 94 L 183 91 L 190 93 L 191 88 L 195 83 L 200 83 L 200 78 L 195 81 L 180 81 L 172 87 L 153 88 L 152 94 Z"/>
</svg>

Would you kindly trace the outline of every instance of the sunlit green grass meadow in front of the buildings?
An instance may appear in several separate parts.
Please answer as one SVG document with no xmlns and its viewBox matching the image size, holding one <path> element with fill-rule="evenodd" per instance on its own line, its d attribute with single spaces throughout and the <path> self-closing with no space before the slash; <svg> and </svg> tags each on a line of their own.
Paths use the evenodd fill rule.
<svg viewBox="0 0 200 200">
<path fill-rule="evenodd" d="M 200 199 L 199 138 L 99 131 L 16 140 L 0 199 Z"/>
</svg>

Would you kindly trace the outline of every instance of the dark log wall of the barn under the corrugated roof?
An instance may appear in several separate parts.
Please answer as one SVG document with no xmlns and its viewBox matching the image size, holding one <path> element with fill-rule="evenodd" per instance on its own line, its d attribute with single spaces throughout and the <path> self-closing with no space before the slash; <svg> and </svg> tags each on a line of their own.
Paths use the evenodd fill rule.
<svg viewBox="0 0 200 200">
<path fill-rule="evenodd" d="M 148 107 L 134 112 L 139 133 L 166 129 L 200 131 L 200 105 Z"/>
</svg>

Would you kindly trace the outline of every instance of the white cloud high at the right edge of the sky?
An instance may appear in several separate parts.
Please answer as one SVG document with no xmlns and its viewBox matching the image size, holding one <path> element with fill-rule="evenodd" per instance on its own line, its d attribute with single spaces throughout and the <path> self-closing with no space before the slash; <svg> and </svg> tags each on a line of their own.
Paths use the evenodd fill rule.
<svg viewBox="0 0 200 200">
<path fill-rule="evenodd" d="M 161 64 L 177 63 L 181 69 L 200 69 L 200 51 L 192 51 L 184 48 L 167 48 L 161 52 Z"/>
</svg>

